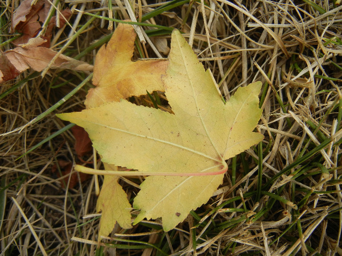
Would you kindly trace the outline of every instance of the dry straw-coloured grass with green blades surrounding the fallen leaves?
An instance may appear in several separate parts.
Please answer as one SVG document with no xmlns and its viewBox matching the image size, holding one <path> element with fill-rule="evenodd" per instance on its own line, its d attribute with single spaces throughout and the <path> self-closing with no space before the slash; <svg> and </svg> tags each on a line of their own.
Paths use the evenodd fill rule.
<svg viewBox="0 0 342 256">
<path fill-rule="evenodd" d="M 126 2 L 111 2 L 114 18 L 129 18 Z M 342 255 L 342 6 L 316 3 L 321 9 L 309 1 L 191 1 L 145 21 L 182 29 L 225 98 L 238 86 L 263 82 L 257 129 L 265 139 L 233 158 L 231 174 L 212 199 L 169 233 L 159 220 L 143 221 L 131 230 L 116 227 L 105 249 L 96 249 L 99 219 L 83 218 L 95 213 L 94 179 L 64 189 L 62 178 L 52 173 L 58 160 L 77 161 L 69 131 L 17 159 L 66 125 L 55 113 L 83 107 L 89 83 L 27 125 L 87 74 L 59 70 L 42 78 L 27 71 L 1 84 L 0 255 L 102 255 L 103 249 L 104 255 Z M 13 38 L 6 35 L 7 21 L 18 4 L 1 1 L 1 42 Z M 132 10 L 139 21 L 163 4 L 138 0 Z M 57 6 L 108 17 L 107 3 L 100 1 L 65 0 Z M 77 31 L 91 17 L 73 12 L 69 22 Z M 108 21 L 92 19 L 73 41 L 68 25 L 55 29 L 51 47 L 75 57 L 111 33 Z M 148 57 L 167 57 L 161 49 L 166 41 L 170 45 L 170 35 L 151 37 L 159 52 L 147 43 Z M 66 43 L 70 46 L 63 47 Z M 2 51 L 11 48 L 4 44 Z M 92 64 L 95 53 L 88 48 L 81 59 Z M 17 127 L 22 130 L 8 133 Z M 138 190 L 121 182 L 133 198 Z"/>
</svg>

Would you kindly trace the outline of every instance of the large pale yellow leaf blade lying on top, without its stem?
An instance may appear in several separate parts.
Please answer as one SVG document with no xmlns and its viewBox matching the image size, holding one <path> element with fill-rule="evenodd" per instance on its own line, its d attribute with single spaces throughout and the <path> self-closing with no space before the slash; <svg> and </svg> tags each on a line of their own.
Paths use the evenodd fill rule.
<svg viewBox="0 0 342 256">
<path fill-rule="evenodd" d="M 134 223 L 162 217 L 166 231 L 208 201 L 222 182 L 226 159 L 263 138 L 253 132 L 261 115 L 260 82 L 238 88 L 224 104 L 177 30 L 169 61 L 164 86 L 174 115 L 127 100 L 58 115 L 85 128 L 104 162 L 159 175 L 141 184 Z"/>
</svg>

